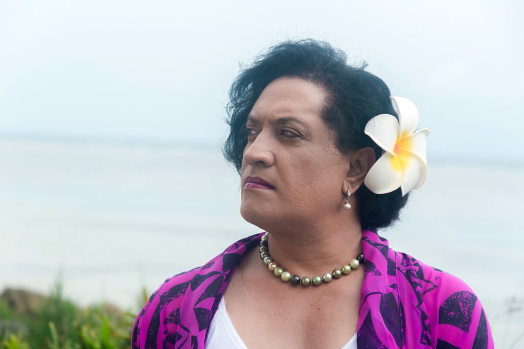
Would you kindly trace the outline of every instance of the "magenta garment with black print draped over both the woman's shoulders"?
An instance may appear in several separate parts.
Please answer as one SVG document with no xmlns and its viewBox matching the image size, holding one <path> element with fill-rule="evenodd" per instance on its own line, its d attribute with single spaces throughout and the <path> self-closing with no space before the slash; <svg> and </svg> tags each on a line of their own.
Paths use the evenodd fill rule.
<svg viewBox="0 0 524 349">
<path fill-rule="evenodd" d="M 263 234 L 239 240 L 205 265 L 167 279 L 138 314 L 132 348 L 203 349 L 231 277 Z M 494 348 L 484 309 L 462 280 L 391 250 L 373 231 L 363 231 L 362 248 L 359 349 Z"/>
</svg>

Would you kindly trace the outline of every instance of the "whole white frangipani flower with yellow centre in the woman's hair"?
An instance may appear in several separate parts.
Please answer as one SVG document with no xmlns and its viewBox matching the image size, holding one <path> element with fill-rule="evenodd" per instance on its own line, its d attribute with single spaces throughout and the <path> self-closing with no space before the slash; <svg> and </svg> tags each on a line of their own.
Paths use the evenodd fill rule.
<svg viewBox="0 0 524 349">
<path fill-rule="evenodd" d="M 428 173 L 425 138 L 429 129 L 414 132 L 419 123 L 419 112 L 407 98 L 390 97 L 397 109 L 397 118 L 380 114 L 369 120 L 364 129 L 384 150 L 370 168 L 364 184 L 375 194 L 391 193 L 401 188 L 402 196 L 419 188 Z"/>
</svg>

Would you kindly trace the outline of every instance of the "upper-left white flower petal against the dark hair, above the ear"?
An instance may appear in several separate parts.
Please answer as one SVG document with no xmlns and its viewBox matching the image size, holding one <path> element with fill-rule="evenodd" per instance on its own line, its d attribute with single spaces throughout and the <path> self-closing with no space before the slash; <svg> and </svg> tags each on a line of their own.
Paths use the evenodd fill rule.
<svg viewBox="0 0 524 349">
<path fill-rule="evenodd" d="M 399 137 L 399 124 L 396 117 L 380 114 L 366 123 L 366 133 L 377 145 L 391 155 L 395 155 L 395 143 Z"/>
</svg>

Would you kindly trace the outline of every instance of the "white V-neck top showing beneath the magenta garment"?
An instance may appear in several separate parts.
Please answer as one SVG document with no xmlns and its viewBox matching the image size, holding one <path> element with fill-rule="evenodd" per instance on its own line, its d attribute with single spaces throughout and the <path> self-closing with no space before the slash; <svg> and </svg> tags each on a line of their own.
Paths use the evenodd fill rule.
<svg viewBox="0 0 524 349">
<path fill-rule="evenodd" d="M 227 314 L 224 297 L 220 300 L 219 309 L 211 320 L 206 349 L 247 349 L 241 337 L 235 330 L 233 322 Z M 357 349 L 357 335 L 355 334 L 342 349 Z"/>
</svg>

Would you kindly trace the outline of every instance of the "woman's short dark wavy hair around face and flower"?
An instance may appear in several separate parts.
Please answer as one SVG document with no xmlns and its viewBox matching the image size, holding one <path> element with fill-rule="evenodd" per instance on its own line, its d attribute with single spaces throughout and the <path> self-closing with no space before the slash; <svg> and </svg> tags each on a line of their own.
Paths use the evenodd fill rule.
<svg viewBox="0 0 524 349">
<path fill-rule="evenodd" d="M 242 69 L 230 89 L 226 107 L 230 134 L 224 143 L 225 159 L 241 172 L 247 115 L 264 88 L 281 76 L 301 77 L 324 87 L 328 97 L 322 118 L 336 134 L 337 149 L 345 154 L 370 147 L 378 159 L 383 150 L 364 133 L 364 127 L 376 115 L 391 114 L 397 119 L 398 115 L 384 81 L 364 70 L 367 63 L 351 66 L 346 60 L 342 50 L 313 39 L 281 42 L 258 55 L 252 65 Z M 400 188 L 378 195 L 365 185 L 355 194 L 363 228 L 375 231 L 398 220 L 409 196 L 402 197 Z"/>
</svg>

